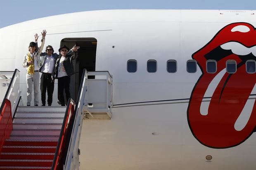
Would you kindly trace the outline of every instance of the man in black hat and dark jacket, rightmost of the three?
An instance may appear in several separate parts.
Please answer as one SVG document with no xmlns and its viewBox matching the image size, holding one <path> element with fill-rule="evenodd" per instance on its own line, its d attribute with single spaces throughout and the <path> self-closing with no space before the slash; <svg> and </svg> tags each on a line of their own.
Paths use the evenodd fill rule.
<svg viewBox="0 0 256 170">
<path fill-rule="evenodd" d="M 70 76 L 73 75 L 73 63 L 72 60 L 77 58 L 77 50 L 80 47 L 74 46 L 70 55 L 67 55 L 69 48 L 65 45 L 59 48 L 60 56 L 57 58 L 55 64 L 55 78 L 58 79 L 58 100 L 62 106 L 65 106 L 64 89 L 66 93 L 66 101 L 70 98 L 69 84 Z"/>
</svg>

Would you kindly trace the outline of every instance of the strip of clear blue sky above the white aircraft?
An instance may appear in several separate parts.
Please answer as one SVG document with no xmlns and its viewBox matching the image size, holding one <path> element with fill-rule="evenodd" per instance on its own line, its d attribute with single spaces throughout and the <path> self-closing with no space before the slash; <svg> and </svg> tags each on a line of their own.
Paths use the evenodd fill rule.
<svg viewBox="0 0 256 170">
<path fill-rule="evenodd" d="M 0 0 L 0 28 L 57 14 L 100 9 L 256 9 L 256 0 Z"/>
</svg>

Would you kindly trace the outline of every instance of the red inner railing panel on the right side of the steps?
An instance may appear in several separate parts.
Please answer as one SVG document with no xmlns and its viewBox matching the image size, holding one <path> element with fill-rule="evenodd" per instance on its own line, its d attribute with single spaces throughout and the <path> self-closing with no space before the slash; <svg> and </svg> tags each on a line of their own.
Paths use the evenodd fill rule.
<svg viewBox="0 0 256 170">
<path fill-rule="evenodd" d="M 63 160 L 65 158 L 64 153 L 66 153 L 65 150 L 67 145 L 66 142 L 69 142 L 68 134 L 71 133 L 72 130 L 72 122 L 74 121 L 73 118 L 74 101 L 71 98 L 69 98 L 51 170 L 63 169 Z"/>
</svg>

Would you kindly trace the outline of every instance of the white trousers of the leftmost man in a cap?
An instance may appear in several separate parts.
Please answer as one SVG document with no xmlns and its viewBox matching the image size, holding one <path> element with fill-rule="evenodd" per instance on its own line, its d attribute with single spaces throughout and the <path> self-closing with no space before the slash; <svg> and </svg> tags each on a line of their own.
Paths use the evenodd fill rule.
<svg viewBox="0 0 256 170">
<path fill-rule="evenodd" d="M 31 100 L 32 100 L 32 89 L 34 87 L 34 105 L 38 105 L 38 100 L 39 100 L 39 79 L 40 79 L 40 74 L 39 72 L 35 72 L 33 75 L 26 74 L 26 82 L 27 82 L 27 105 L 31 105 Z"/>
</svg>

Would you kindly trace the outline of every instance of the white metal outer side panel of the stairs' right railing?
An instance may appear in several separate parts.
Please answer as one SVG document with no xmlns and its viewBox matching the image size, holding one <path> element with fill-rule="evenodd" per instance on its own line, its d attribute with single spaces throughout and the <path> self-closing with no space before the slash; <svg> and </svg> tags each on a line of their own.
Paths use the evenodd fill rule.
<svg viewBox="0 0 256 170">
<path fill-rule="evenodd" d="M 63 169 L 71 170 L 76 169 L 79 170 L 79 155 L 80 150 L 79 142 L 80 135 L 83 125 L 83 105 L 85 101 L 85 95 L 87 91 L 86 79 L 87 79 L 87 70 L 83 70 L 82 81 L 80 82 L 79 91 L 76 99 L 76 107 L 75 107 L 75 121 L 73 122 L 72 132 L 70 134 L 70 141 L 68 145 L 68 149 L 66 150 L 66 158 L 64 161 Z M 75 135 L 74 135 L 75 134 Z"/>
</svg>

